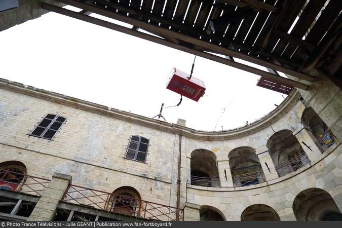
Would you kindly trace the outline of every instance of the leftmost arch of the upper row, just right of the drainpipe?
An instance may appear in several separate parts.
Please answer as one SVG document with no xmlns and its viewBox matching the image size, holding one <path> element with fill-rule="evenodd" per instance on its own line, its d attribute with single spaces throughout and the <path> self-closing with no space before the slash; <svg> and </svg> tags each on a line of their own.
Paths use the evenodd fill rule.
<svg viewBox="0 0 342 228">
<path fill-rule="evenodd" d="M 191 184 L 206 187 L 220 187 L 217 157 L 207 149 L 195 149 L 191 153 Z"/>
</svg>

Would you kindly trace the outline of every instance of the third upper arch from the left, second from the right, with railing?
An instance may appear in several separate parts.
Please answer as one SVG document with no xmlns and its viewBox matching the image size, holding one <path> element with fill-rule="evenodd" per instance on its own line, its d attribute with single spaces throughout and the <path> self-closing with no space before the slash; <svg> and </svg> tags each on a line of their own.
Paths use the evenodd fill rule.
<svg viewBox="0 0 342 228">
<path fill-rule="evenodd" d="M 267 148 L 280 177 L 310 163 L 305 151 L 290 130 L 281 130 L 273 134 L 267 141 Z"/>
</svg>

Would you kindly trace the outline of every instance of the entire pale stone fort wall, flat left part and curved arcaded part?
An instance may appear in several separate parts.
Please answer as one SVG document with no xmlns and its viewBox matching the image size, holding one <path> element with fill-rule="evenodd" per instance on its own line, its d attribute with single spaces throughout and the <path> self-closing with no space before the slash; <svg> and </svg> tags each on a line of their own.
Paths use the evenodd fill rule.
<svg viewBox="0 0 342 228">
<path fill-rule="evenodd" d="M 337 89 L 335 92 L 335 97 L 341 94 Z M 294 205 L 298 196 L 314 197 L 308 189 L 323 191 L 330 197 L 326 198 L 330 205 L 327 210 L 342 211 L 340 100 L 330 99 L 319 114 L 338 138 L 323 153 L 311 129 L 301 122 L 306 107 L 296 90 L 265 118 L 220 132 L 196 131 L 7 80 L 0 80 L 0 95 L 0 162 L 20 161 L 29 175 L 51 179 L 58 172 L 70 175 L 75 185 L 109 193 L 131 186 L 142 200 L 175 207 L 180 161 L 179 207 L 188 210 L 186 219 L 198 220 L 200 208 L 215 209 L 223 220 L 241 220 L 243 214 L 245 219 L 258 219 L 254 211 L 272 208 L 276 220 L 303 220 L 297 214 L 305 210 L 298 212 Z M 316 105 L 313 99 L 310 102 Z M 330 110 L 334 121 L 324 115 L 329 105 L 335 110 Z M 53 140 L 29 136 L 47 113 L 61 115 L 67 122 Z M 267 144 L 272 135 L 283 130 L 292 132 L 310 163 L 279 177 Z M 149 139 L 145 163 L 124 158 L 131 135 Z M 239 147 L 255 150 L 252 159 L 259 160 L 265 182 L 234 187 L 229 155 Z M 191 185 L 192 156 L 198 155 L 194 151 L 209 153 L 204 159 L 213 158 L 203 164 L 212 166 L 212 173 L 218 174 L 220 187 Z M 195 166 L 202 164 L 195 162 Z M 316 208 L 322 206 L 317 204 Z M 267 210 L 265 214 L 271 215 L 272 210 Z M 320 218 L 327 210 L 306 211 L 305 219 Z M 273 220 L 269 216 L 262 219 Z"/>
</svg>

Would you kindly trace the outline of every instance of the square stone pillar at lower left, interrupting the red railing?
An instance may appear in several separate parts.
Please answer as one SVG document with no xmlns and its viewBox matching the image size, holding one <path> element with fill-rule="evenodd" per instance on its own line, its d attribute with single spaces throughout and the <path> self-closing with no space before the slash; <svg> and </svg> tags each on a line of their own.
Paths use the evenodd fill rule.
<svg viewBox="0 0 342 228">
<path fill-rule="evenodd" d="M 45 189 L 41 199 L 35 205 L 27 221 L 53 220 L 56 214 L 57 205 L 62 199 L 69 183 L 71 183 L 71 176 L 54 173 L 51 182 Z"/>
</svg>

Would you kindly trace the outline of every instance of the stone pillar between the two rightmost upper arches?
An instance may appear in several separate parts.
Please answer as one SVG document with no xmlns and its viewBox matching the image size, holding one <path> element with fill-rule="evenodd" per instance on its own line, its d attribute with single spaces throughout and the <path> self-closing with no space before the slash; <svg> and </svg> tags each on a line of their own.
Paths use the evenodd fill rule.
<svg viewBox="0 0 342 228">
<path fill-rule="evenodd" d="M 311 130 L 306 127 L 302 127 L 299 131 L 294 132 L 293 135 L 297 138 L 310 161 L 315 164 L 315 160 L 320 159 L 322 153 L 312 138 L 314 136 L 311 136 L 309 131 Z"/>
</svg>

